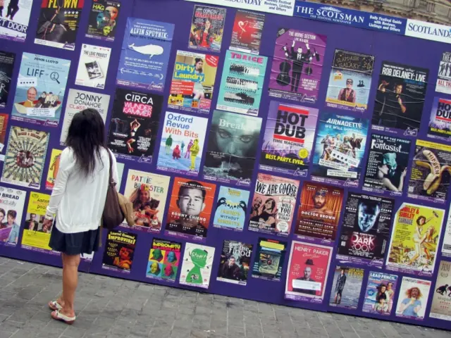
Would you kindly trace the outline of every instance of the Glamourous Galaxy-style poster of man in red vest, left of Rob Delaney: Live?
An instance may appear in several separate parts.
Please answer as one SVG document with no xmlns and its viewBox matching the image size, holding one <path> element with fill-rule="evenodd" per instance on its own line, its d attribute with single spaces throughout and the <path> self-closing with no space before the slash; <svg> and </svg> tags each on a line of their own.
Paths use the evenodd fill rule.
<svg viewBox="0 0 451 338">
<path fill-rule="evenodd" d="M 335 49 L 326 106 L 364 113 L 368 108 L 374 56 Z"/>
</svg>

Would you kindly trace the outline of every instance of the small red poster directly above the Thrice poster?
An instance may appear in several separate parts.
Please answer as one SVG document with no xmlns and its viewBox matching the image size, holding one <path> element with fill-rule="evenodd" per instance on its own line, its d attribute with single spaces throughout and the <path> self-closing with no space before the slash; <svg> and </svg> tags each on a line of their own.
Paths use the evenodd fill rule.
<svg viewBox="0 0 451 338">
<path fill-rule="evenodd" d="M 238 9 L 233 22 L 229 49 L 259 55 L 264 23 L 264 14 Z"/>
</svg>

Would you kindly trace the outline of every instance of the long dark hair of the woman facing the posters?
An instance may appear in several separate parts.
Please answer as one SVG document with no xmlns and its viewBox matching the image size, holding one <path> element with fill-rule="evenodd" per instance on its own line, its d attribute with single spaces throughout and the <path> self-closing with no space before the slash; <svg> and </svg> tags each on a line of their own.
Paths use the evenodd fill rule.
<svg viewBox="0 0 451 338">
<path fill-rule="evenodd" d="M 92 174 L 96 157 L 101 158 L 100 150 L 106 148 L 105 124 L 97 110 L 87 108 L 73 115 L 66 146 L 72 148 L 82 175 Z"/>
</svg>

